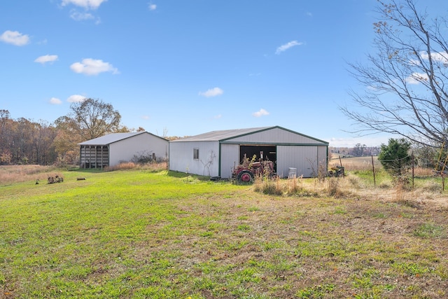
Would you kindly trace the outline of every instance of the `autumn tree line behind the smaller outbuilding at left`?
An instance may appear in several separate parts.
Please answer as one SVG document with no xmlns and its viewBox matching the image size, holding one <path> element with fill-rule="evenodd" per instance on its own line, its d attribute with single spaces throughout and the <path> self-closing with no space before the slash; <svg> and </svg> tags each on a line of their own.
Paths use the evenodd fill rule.
<svg viewBox="0 0 448 299">
<path fill-rule="evenodd" d="M 0 165 L 76 165 L 80 142 L 134 130 L 120 121 L 111 104 L 90 98 L 71 104 L 69 113 L 54 123 L 13 119 L 8 110 L 0 110 Z"/>
</svg>

